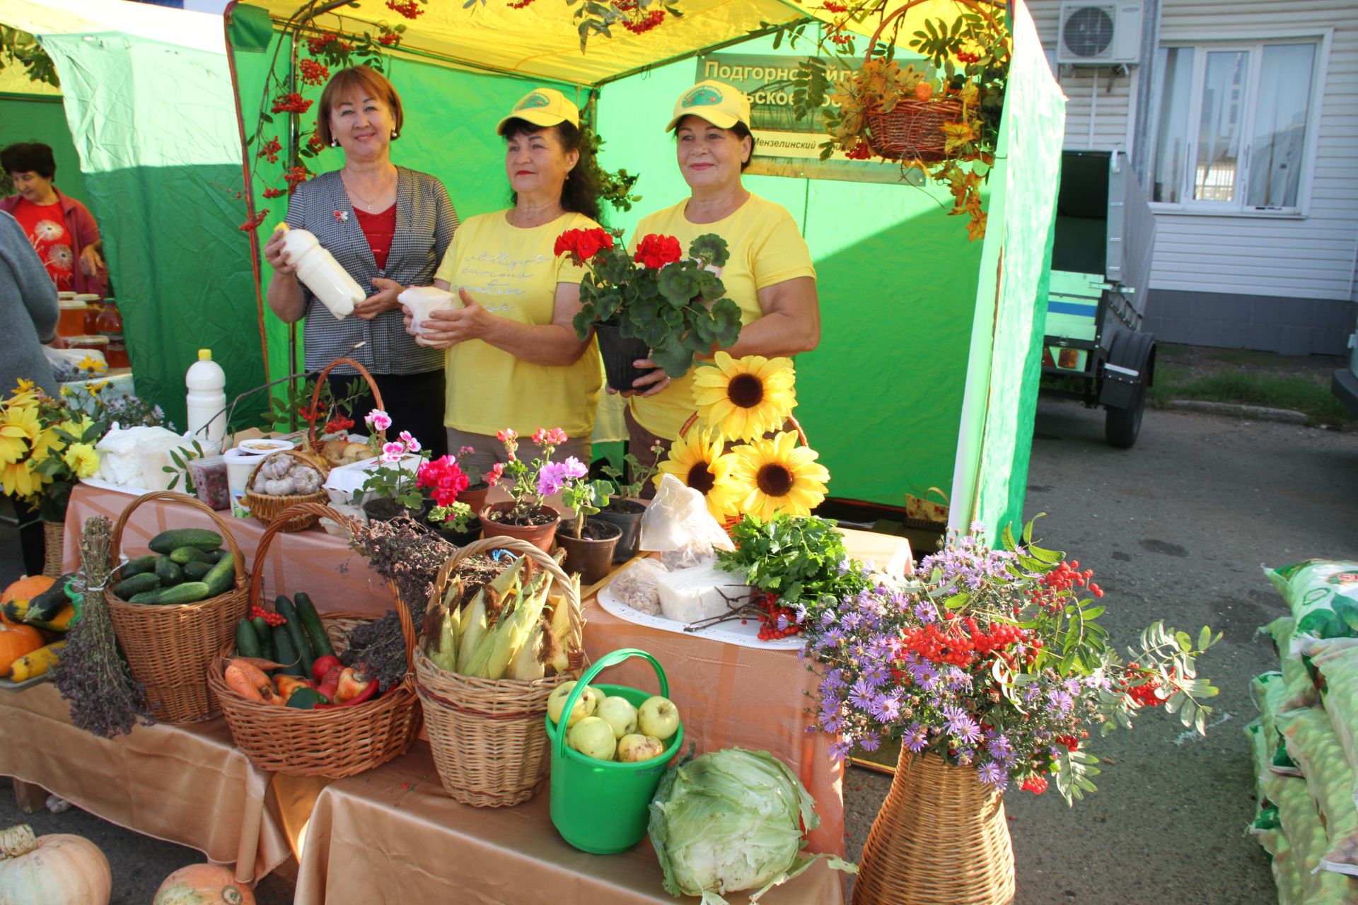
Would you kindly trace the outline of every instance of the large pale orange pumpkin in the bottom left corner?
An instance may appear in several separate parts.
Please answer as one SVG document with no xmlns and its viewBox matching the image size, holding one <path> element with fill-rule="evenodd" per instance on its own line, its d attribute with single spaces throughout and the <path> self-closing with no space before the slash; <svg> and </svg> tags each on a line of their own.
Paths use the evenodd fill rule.
<svg viewBox="0 0 1358 905">
<path fill-rule="evenodd" d="M 0 902 L 109 905 L 113 874 L 99 847 L 83 836 L 34 837 L 20 824 L 0 830 Z"/>
</svg>

